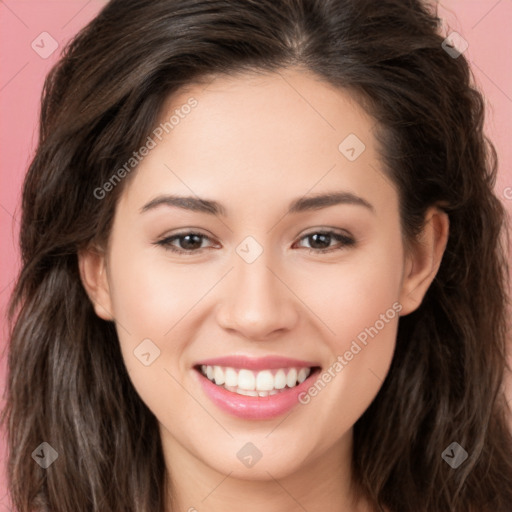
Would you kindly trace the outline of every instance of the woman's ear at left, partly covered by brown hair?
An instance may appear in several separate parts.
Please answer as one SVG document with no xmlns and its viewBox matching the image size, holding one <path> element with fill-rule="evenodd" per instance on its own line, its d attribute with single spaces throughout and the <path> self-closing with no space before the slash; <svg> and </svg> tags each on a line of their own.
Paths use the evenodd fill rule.
<svg viewBox="0 0 512 512">
<path fill-rule="evenodd" d="M 107 279 L 107 262 L 104 251 L 97 247 L 78 253 L 80 279 L 91 299 L 96 314 L 103 320 L 113 320 L 110 286 Z"/>
</svg>

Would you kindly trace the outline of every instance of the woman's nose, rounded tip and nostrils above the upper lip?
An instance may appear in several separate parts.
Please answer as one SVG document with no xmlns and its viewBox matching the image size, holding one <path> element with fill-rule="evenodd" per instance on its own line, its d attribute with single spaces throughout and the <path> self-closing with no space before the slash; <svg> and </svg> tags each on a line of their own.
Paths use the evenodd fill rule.
<svg viewBox="0 0 512 512">
<path fill-rule="evenodd" d="M 219 325 L 240 336 L 269 340 L 278 332 L 293 329 L 299 319 L 300 301 L 293 293 L 279 267 L 263 253 L 252 263 L 234 255 L 234 268 L 229 273 L 217 310 Z"/>
</svg>

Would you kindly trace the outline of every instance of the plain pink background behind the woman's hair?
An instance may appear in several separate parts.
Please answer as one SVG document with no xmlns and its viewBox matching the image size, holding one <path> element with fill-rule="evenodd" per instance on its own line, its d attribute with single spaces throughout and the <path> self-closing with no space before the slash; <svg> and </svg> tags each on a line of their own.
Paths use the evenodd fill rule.
<svg viewBox="0 0 512 512">
<path fill-rule="evenodd" d="M 19 269 L 17 237 L 20 191 L 37 142 L 37 117 L 44 77 L 64 44 L 104 5 L 99 0 L 4 0 L 0 2 L 0 393 L 3 393 L 7 342 L 4 320 L 7 300 Z M 446 0 L 439 14 L 451 30 L 469 43 L 465 56 L 487 102 L 487 133 L 500 158 L 496 193 L 512 213 L 512 20 L 511 0 Z M 52 39 L 59 47 L 49 57 Z M 41 42 L 41 39 L 43 41 Z M 32 43 L 40 56 L 32 48 Z M 510 187 L 510 188 L 509 188 Z M 511 361 L 512 363 L 512 361 Z M 512 383 L 507 386 L 512 400 Z M 0 407 L 3 406 L 3 397 Z M 5 445 L 0 440 L 0 512 L 8 510 L 5 496 Z"/>
</svg>

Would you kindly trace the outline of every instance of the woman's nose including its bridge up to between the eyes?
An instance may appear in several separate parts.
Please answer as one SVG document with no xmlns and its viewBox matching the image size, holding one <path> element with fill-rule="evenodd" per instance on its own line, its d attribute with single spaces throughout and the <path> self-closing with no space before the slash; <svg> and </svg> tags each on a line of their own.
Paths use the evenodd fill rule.
<svg viewBox="0 0 512 512">
<path fill-rule="evenodd" d="M 266 338 L 291 328 L 297 319 L 293 294 L 276 277 L 279 270 L 274 268 L 279 265 L 271 261 L 272 251 L 247 237 L 235 252 L 231 286 L 226 288 L 219 313 L 221 325 L 247 338 Z"/>
</svg>

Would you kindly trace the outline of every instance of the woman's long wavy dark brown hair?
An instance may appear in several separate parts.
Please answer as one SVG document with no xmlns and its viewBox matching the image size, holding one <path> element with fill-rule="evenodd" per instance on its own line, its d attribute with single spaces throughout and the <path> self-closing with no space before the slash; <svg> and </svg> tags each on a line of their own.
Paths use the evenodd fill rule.
<svg viewBox="0 0 512 512">
<path fill-rule="evenodd" d="M 183 85 L 301 66 L 375 118 L 405 239 L 430 205 L 450 219 L 439 272 L 354 426 L 354 481 L 378 510 L 510 511 L 506 216 L 482 96 L 444 37 L 419 0 L 112 0 L 74 38 L 46 78 L 23 188 L 2 416 L 17 510 L 164 510 L 156 418 L 79 277 L 77 253 L 108 239 L 127 179 L 95 190 Z M 58 453 L 46 469 L 31 457 L 42 442 Z M 442 457 L 452 442 L 469 455 L 457 469 Z"/>
</svg>

